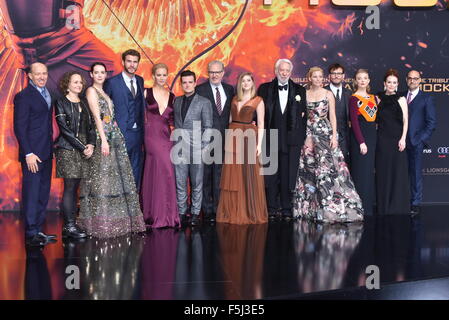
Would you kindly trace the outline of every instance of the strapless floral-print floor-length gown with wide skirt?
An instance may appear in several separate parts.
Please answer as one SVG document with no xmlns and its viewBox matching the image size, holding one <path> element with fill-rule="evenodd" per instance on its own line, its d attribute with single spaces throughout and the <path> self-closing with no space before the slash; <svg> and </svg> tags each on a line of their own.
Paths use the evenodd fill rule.
<svg viewBox="0 0 449 320">
<path fill-rule="evenodd" d="M 320 222 L 363 220 L 362 201 L 339 147 L 330 146 L 329 101 L 307 103 L 307 133 L 299 159 L 293 215 Z"/>
</svg>

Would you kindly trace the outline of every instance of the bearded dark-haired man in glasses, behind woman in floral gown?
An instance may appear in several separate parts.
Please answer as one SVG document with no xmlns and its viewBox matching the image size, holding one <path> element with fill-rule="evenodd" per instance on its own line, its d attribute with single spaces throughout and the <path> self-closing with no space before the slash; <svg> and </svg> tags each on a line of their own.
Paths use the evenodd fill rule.
<svg viewBox="0 0 449 320">
<path fill-rule="evenodd" d="M 351 98 L 351 90 L 343 86 L 345 79 L 345 68 L 334 63 L 328 68 L 330 84 L 324 87 L 332 91 L 335 97 L 335 114 L 337 117 L 338 146 L 340 147 L 345 161 L 349 166 L 349 126 L 348 105 Z"/>
</svg>

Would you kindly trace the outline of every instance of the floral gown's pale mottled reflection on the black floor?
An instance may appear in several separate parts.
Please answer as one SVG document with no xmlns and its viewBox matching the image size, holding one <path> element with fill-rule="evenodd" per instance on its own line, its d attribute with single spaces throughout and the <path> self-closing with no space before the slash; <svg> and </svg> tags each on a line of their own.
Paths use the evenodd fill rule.
<svg viewBox="0 0 449 320">
<path fill-rule="evenodd" d="M 307 293 L 341 288 L 349 260 L 360 242 L 363 224 L 297 221 L 295 228 L 299 289 Z"/>
</svg>

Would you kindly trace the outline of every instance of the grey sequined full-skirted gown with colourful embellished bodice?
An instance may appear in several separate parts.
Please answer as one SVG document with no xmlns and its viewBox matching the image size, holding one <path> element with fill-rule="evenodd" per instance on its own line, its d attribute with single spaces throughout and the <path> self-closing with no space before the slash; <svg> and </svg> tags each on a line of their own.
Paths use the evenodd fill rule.
<svg viewBox="0 0 449 320">
<path fill-rule="evenodd" d="M 78 224 L 89 235 L 98 238 L 145 231 L 125 140 L 109 110 L 108 101 L 98 91 L 97 94 L 110 154 L 104 156 L 101 153 L 97 131 L 97 147 L 90 160 L 89 175 L 81 180 Z M 113 106 L 111 109 L 114 110 Z"/>
</svg>

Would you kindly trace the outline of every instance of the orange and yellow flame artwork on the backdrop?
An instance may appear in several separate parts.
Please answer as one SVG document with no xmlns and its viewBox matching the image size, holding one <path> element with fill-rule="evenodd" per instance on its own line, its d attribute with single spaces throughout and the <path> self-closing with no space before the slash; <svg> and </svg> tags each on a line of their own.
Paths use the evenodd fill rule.
<svg viewBox="0 0 449 320">
<path fill-rule="evenodd" d="M 339 17 L 342 14 L 330 6 L 309 7 L 306 0 L 277 1 L 269 8 L 257 1 L 241 0 L 86 0 L 82 12 L 85 27 L 116 53 L 110 59 L 119 61 L 124 48 L 138 48 L 137 42 L 145 53 L 138 73 L 146 85 L 151 86 L 151 65 L 165 62 L 177 94 L 176 76 L 183 68 L 204 77 L 208 61 L 218 59 L 228 66 L 228 82 L 235 83 L 240 72 L 249 70 L 260 83 L 273 77 L 276 59 L 292 58 L 307 45 L 307 28 L 342 34 L 350 27 L 346 16 Z M 5 23 L 4 13 L 0 23 Z M 13 49 L 15 37 L 5 29 L 0 32 L 0 210 L 10 210 L 18 209 L 21 185 L 12 102 L 26 85 L 26 75 L 18 69 L 21 57 Z M 304 57 L 302 63 L 306 61 Z M 49 208 L 58 206 L 61 180 L 52 181 Z"/>
</svg>

